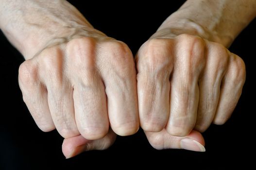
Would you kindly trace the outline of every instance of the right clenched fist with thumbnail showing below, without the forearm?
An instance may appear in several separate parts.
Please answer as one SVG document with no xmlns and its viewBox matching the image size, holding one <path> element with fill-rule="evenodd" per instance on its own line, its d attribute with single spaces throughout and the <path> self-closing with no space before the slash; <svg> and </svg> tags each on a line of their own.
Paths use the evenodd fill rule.
<svg viewBox="0 0 256 170">
<path fill-rule="evenodd" d="M 245 81 L 239 56 L 188 34 L 154 36 L 141 46 L 136 63 L 140 125 L 158 149 L 181 148 L 175 136 L 225 123 Z M 194 139 L 204 144 L 200 134 Z M 204 150 L 200 147 L 197 151 Z"/>
</svg>

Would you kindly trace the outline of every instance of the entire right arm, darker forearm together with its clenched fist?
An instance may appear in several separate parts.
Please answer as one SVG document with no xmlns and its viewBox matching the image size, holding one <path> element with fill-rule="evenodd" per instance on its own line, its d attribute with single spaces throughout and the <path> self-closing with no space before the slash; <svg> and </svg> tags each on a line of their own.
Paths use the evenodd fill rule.
<svg viewBox="0 0 256 170">
<path fill-rule="evenodd" d="M 141 46 L 139 117 L 155 148 L 182 148 L 176 136 L 204 132 L 231 116 L 245 66 L 226 48 L 256 16 L 255 7 L 253 0 L 188 0 Z M 194 139 L 204 144 L 199 134 Z"/>
</svg>

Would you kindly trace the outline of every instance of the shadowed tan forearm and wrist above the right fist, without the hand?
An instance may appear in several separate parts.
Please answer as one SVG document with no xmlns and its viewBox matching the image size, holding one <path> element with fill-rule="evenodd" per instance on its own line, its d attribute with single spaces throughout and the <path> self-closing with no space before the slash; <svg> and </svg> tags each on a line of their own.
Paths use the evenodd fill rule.
<svg viewBox="0 0 256 170">
<path fill-rule="evenodd" d="M 187 0 L 154 36 L 194 34 L 229 47 L 256 17 L 256 0 Z"/>
</svg>

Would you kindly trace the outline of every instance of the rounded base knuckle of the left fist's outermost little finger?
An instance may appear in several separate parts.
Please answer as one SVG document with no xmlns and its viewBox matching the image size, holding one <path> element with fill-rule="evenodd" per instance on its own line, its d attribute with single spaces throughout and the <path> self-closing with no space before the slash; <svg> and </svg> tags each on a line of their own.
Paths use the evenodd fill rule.
<svg viewBox="0 0 256 170">
<path fill-rule="evenodd" d="M 18 77 L 23 85 L 33 86 L 37 81 L 37 67 L 31 60 L 23 62 L 18 69 Z"/>
</svg>

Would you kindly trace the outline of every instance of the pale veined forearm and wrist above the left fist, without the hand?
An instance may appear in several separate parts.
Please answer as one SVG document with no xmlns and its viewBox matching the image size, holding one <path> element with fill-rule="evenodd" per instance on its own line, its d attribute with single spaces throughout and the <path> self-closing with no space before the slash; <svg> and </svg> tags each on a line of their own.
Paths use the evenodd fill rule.
<svg viewBox="0 0 256 170">
<path fill-rule="evenodd" d="M 0 29 L 26 59 L 83 30 L 94 31 L 66 0 L 0 0 Z"/>
</svg>

